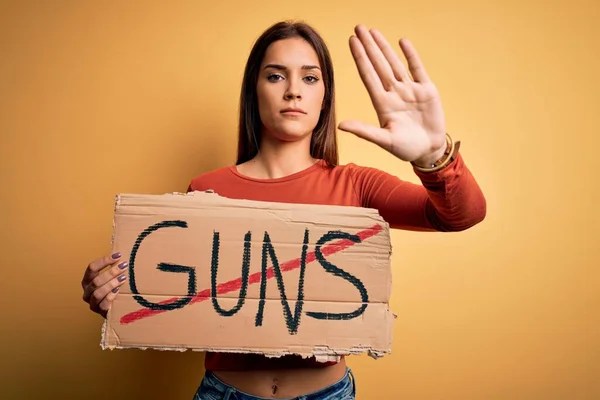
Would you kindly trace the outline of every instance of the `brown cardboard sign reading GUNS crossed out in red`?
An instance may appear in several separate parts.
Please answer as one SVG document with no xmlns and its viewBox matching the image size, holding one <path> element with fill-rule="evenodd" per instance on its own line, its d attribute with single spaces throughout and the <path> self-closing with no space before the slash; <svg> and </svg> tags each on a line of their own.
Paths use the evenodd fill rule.
<svg viewBox="0 0 600 400">
<path fill-rule="evenodd" d="M 376 210 L 123 194 L 113 250 L 129 262 L 128 283 L 103 349 L 319 360 L 391 351 L 391 244 Z"/>
</svg>

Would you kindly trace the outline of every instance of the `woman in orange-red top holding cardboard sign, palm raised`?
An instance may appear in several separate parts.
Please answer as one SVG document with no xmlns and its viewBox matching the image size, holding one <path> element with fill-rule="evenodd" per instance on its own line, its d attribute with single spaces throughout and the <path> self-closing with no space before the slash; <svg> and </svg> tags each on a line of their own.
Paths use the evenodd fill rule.
<svg viewBox="0 0 600 400">
<path fill-rule="evenodd" d="M 235 166 L 203 174 L 189 190 L 225 197 L 377 208 L 392 228 L 459 231 L 481 220 L 485 199 L 447 135 L 441 101 L 411 43 L 400 41 L 408 70 L 383 36 L 357 26 L 350 49 L 380 127 L 345 121 L 339 128 L 410 162 L 422 185 L 373 168 L 338 165 L 334 78 L 321 37 L 308 25 L 282 22 L 252 49 L 240 99 Z M 92 310 L 106 316 L 126 263 L 90 263 L 82 286 Z M 432 259 L 432 262 L 438 260 Z M 106 272 L 98 271 L 107 266 Z M 121 280 L 123 280 L 123 282 Z M 354 399 L 345 360 L 206 356 L 195 399 Z"/>
</svg>

